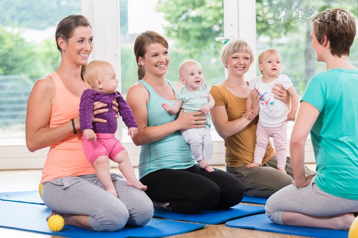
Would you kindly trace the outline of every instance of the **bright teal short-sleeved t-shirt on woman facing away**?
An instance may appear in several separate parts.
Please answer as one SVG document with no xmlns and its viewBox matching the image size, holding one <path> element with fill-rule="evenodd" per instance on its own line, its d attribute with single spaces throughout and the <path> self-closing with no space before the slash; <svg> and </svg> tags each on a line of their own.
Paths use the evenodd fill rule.
<svg viewBox="0 0 358 238">
<path fill-rule="evenodd" d="M 358 70 L 334 68 L 313 77 L 302 101 L 320 115 L 310 132 L 324 192 L 358 200 Z"/>
</svg>

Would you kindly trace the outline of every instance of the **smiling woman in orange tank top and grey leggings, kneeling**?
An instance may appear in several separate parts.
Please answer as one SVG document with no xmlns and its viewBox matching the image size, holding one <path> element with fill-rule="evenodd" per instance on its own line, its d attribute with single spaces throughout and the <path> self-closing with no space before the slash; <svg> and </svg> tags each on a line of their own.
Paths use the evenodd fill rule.
<svg viewBox="0 0 358 238">
<path fill-rule="evenodd" d="M 82 149 L 79 103 L 87 89 L 83 66 L 92 41 L 91 25 L 84 16 L 70 15 L 59 22 L 56 43 L 61 63 L 55 72 L 36 81 L 30 93 L 27 147 L 33 152 L 50 146 L 42 171 L 43 201 L 65 224 L 97 231 L 116 231 L 126 224 L 143 226 L 153 215 L 151 200 L 143 191 L 127 186 L 118 174 L 111 178 L 119 198 L 106 192 Z M 103 106 L 97 104 L 94 109 Z M 102 112 L 99 109 L 95 114 Z"/>
</svg>

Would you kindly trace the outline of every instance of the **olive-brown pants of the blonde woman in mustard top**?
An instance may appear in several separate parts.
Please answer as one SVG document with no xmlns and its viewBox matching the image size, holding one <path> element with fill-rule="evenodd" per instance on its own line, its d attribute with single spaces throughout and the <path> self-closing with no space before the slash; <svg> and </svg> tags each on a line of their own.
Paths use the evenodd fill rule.
<svg viewBox="0 0 358 238">
<path fill-rule="evenodd" d="M 287 174 L 277 170 L 277 159 L 274 156 L 263 166 L 247 168 L 246 165 L 239 167 L 226 167 L 226 171 L 238 178 L 245 187 L 245 194 L 268 198 L 281 188 L 291 184 L 294 177 L 291 159 L 287 157 Z M 305 167 L 305 174 L 316 174 Z"/>
</svg>

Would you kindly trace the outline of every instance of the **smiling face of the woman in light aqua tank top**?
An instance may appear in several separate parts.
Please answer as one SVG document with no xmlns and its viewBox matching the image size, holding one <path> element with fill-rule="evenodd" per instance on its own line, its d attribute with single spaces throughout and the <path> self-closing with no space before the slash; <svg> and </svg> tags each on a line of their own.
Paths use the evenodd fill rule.
<svg viewBox="0 0 358 238">
<path fill-rule="evenodd" d="M 145 68 L 145 76 L 164 77 L 169 66 L 168 49 L 161 43 L 151 43 L 147 46 L 144 57 L 139 57 L 139 63 Z"/>
</svg>

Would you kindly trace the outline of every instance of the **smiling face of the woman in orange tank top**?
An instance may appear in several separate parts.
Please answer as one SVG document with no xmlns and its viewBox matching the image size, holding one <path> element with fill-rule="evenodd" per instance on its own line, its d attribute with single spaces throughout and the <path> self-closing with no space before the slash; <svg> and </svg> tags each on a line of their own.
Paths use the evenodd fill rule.
<svg viewBox="0 0 358 238">
<path fill-rule="evenodd" d="M 64 50 L 62 57 L 76 65 L 85 65 L 93 48 L 91 27 L 76 27 L 73 36 L 67 41 L 59 38 L 59 45 Z"/>
</svg>

